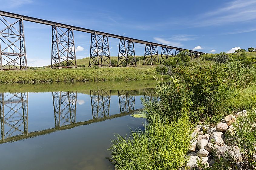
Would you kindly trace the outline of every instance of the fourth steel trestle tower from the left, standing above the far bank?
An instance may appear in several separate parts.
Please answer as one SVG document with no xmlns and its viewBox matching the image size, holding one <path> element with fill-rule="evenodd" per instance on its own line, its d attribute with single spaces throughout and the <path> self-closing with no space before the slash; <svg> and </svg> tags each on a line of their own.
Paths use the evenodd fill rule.
<svg viewBox="0 0 256 170">
<path fill-rule="evenodd" d="M 117 66 L 137 66 L 133 41 L 120 39 Z"/>
</svg>

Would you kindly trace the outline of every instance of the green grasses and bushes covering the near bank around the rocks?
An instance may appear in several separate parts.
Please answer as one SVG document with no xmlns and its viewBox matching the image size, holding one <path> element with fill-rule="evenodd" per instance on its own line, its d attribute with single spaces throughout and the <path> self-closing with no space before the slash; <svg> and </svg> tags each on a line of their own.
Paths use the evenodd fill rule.
<svg viewBox="0 0 256 170">
<path fill-rule="evenodd" d="M 244 156 L 242 169 L 255 168 L 256 132 L 248 125 L 252 127 L 256 116 L 256 70 L 245 64 L 244 53 L 209 56 L 215 58 L 209 65 L 181 63 L 168 72 L 166 66 L 156 67 L 157 72 L 172 77 L 168 83 L 157 84 L 159 102 L 144 101 L 145 130 L 113 140 L 110 160 L 116 169 L 185 169 L 191 124 L 203 120 L 213 126 L 232 111 L 243 109 L 251 114 L 246 120 L 238 118 L 235 140 Z M 233 163 L 220 159 L 211 168 L 201 169 L 229 169 Z"/>
</svg>

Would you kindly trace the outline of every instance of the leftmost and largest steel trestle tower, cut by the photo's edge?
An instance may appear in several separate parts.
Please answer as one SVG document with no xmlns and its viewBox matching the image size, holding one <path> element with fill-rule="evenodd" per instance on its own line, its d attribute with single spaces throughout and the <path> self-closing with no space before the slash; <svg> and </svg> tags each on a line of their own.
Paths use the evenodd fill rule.
<svg viewBox="0 0 256 170">
<path fill-rule="evenodd" d="M 0 15 L 0 70 L 26 70 L 27 55 L 23 18 L 9 23 Z"/>
</svg>

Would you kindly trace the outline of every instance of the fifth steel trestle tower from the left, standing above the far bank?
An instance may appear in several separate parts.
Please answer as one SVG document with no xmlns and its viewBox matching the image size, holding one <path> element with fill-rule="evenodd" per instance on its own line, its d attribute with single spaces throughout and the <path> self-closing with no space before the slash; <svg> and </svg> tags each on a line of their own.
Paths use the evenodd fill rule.
<svg viewBox="0 0 256 170">
<path fill-rule="evenodd" d="M 157 64 L 159 63 L 158 51 L 156 45 L 146 44 L 143 64 Z"/>
</svg>

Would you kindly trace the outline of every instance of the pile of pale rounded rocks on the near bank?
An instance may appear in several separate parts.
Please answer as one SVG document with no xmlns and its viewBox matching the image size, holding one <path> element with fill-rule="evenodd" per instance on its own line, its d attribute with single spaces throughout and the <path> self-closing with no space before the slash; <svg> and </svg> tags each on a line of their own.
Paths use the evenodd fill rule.
<svg viewBox="0 0 256 170">
<path fill-rule="evenodd" d="M 231 159 L 232 157 L 236 162 L 241 162 L 242 157 L 238 146 L 234 142 L 234 137 L 226 139 L 225 136 L 234 136 L 236 132 L 232 124 L 237 121 L 236 117 L 246 115 L 247 111 L 238 112 L 235 116 L 227 115 L 213 128 L 208 125 L 196 125 L 191 135 L 187 167 L 197 168 L 199 162 L 201 165 L 210 167 L 215 159 L 221 157 L 225 159 Z M 253 160 L 256 161 L 256 154 L 253 155 Z"/>
</svg>

